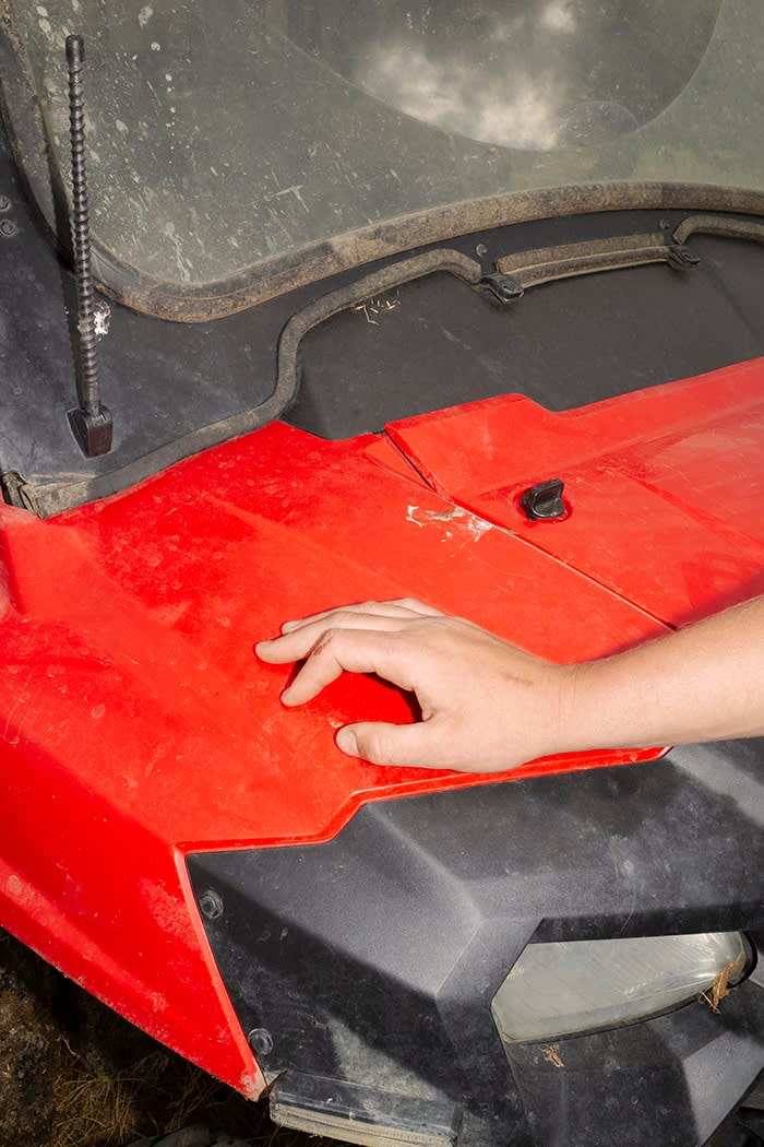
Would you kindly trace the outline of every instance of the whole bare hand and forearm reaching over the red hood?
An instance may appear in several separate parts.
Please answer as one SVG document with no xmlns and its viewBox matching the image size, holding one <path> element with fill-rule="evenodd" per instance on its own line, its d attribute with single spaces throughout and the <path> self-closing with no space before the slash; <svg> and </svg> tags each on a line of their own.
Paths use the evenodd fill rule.
<svg viewBox="0 0 764 1147">
<path fill-rule="evenodd" d="M 286 622 L 255 651 L 301 662 L 285 705 L 340 673 L 413 693 L 422 720 L 337 733 L 378 765 L 501 772 L 550 754 L 764 735 L 764 596 L 600 661 L 558 665 L 412 599 Z"/>
</svg>

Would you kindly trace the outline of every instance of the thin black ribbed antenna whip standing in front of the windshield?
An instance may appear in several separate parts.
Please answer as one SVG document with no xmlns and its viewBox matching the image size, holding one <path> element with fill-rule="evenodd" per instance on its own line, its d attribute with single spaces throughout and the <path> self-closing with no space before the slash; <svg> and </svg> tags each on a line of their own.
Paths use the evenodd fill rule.
<svg viewBox="0 0 764 1147">
<path fill-rule="evenodd" d="M 80 450 L 88 458 L 111 450 L 111 414 L 101 401 L 99 354 L 95 336 L 95 299 L 90 271 L 90 225 L 85 161 L 85 99 L 82 65 L 85 41 L 66 37 L 69 67 L 69 134 L 72 148 L 72 250 L 77 278 L 77 397 L 79 406 L 69 411 L 69 423 Z"/>
</svg>

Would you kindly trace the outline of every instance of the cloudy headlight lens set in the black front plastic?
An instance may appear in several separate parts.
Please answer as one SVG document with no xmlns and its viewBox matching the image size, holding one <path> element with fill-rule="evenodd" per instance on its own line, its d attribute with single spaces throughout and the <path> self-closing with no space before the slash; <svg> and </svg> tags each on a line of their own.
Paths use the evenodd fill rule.
<svg viewBox="0 0 764 1147">
<path fill-rule="evenodd" d="M 507 1041 L 613 1028 L 701 992 L 712 1001 L 749 962 L 741 933 L 529 944 L 494 997 L 494 1019 Z"/>
</svg>

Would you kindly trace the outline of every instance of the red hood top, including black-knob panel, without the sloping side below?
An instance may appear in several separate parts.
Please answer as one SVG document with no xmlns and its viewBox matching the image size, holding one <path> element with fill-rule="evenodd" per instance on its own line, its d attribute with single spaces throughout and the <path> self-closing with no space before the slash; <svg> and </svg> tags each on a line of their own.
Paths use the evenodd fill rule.
<svg viewBox="0 0 764 1147">
<path fill-rule="evenodd" d="M 340 725 L 410 719 L 405 699 L 346 674 L 286 710 L 290 670 L 253 642 L 413 595 L 568 662 L 762 592 L 763 382 L 758 360 L 565 414 L 510 396 L 345 442 L 274 423 L 57 518 L 3 507 L 6 735 L 184 850 L 325 840 L 365 799 L 480 783 L 344 756 Z M 528 522 L 519 496 L 551 477 L 566 518 Z"/>
</svg>

